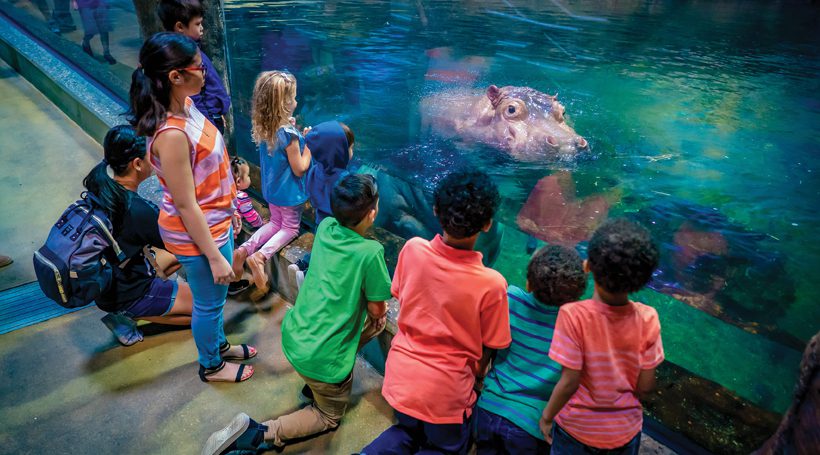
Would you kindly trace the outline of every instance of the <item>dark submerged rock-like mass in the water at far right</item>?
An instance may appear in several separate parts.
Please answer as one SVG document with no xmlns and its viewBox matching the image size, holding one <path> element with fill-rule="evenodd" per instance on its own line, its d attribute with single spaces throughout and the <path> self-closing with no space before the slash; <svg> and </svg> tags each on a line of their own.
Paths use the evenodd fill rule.
<svg viewBox="0 0 820 455">
<path fill-rule="evenodd" d="M 804 343 L 777 327 L 795 285 L 774 239 L 717 209 L 669 198 L 628 214 L 652 231 L 661 260 L 649 287 L 750 333 Z"/>
</svg>

